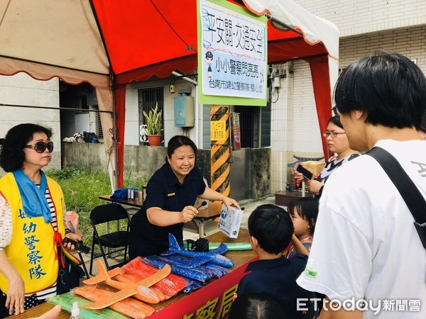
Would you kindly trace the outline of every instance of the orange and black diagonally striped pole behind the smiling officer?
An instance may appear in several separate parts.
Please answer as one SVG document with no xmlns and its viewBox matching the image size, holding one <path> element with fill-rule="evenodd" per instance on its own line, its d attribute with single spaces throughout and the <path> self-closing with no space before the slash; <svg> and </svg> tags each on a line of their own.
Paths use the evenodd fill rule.
<svg viewBox="0 0 426 319">
<path fill-rule="evenodd" d="M 231 183 L 229 179 L 230 139 L 229 139 L 229 106 L 210 106 L 210 140 L 212 148 L 211 172 L 212 189 L 229 196 Z"/>
</svg>

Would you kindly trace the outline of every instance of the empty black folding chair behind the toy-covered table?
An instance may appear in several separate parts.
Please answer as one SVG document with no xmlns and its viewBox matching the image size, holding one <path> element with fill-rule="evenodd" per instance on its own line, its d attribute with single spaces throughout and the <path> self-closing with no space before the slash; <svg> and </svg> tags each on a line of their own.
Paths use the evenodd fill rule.
<svg viewBox="0 0 426 319">
<path fill-rule="evenodd" d="M 90 271 L 92 275 L 93 259 L 98 257 L 104 257 L 105 266 L 107 269 L 119 266 L 126 263 L 127 249 L 129 247 L 129 233 L 130 233 L 130 219 L 126 209 L 117 203 L 108 203 L 105 205 L 96 206 L 90 213 L 90 221 L 93 226 L 93 242 L 92 242 L 92 254 L 90 257 Z M 107 223 L 116 221 L 117 230 L 112 233 L 102 231 L 99 233 L 99 225 L 104 224 L 107 227 Z M 120 222 L 126 223 L 126 225 L 120 225 Z M 120 229 L 118 229 L 120 227 Z M 125 228 L 126 230 L 121 230 Z M 99 245 L 101 254 L 94 254 L 94 245 Z M 119 248 L 115 250 L 104 251 L 104 247 L 107 248 Z M 107 256 L 115 254 L 116 252 L 124 251 L 124 261 L 114 266 L 109 266 Z"/>
</svg>

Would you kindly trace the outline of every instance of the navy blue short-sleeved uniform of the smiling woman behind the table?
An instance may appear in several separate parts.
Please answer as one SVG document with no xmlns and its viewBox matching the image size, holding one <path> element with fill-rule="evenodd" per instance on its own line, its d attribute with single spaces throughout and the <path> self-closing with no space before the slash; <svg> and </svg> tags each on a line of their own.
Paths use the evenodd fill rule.
<svg viewBox="0 0 426 319">
<path fill-rule="evenodd" d="M 168 250 L 168 234 L 183 241 L 183 223 L 169 226 L 156 226 L 149 222 L 146 210 L 159 207 L 165 211 L 182 211 L 185 206 L 193 206 L 197 196 L 204 193 L 206 185 L 200 169 L 194 167 L 180 184 L 170 164 L 167 162 L 153 174 L 146 186 L 146 200 L 143 207 L 131 219 L 129 256 L 151 256 Z"/>
</svg>

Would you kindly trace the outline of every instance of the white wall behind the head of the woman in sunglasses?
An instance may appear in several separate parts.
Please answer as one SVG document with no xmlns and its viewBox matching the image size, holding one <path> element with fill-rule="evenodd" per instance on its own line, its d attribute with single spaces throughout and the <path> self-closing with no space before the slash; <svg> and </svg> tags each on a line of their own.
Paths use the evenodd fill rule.
<svg viewBox="0 0 426 319">
<path fill-rule="evenodd" d="M 58 81 L 57 78 L 37 81 L 25 73 L 0 76 L 0 104 L 59 108 Z M 0 138 L 4 138 L 10 128 L 21 123 L 35 123 L 52 128 L 55 149 L 49 168 L 60 169 L 59 110 L 0 106 Z"/>
</svg>

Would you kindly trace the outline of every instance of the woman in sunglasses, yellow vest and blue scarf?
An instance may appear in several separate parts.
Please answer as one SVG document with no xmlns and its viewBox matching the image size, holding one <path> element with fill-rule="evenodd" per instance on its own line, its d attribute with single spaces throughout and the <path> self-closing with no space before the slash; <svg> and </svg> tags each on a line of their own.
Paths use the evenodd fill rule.
<svg viewBox="0 0 426 319">
<path fill-rule="evenodd" d="M 50 129 L 26 123 L 0 139 L 0 166 L 7 172 L 0 179 L 1 318 L 56 294 L 57 245 L 66 232 L 62 189 L 41 170 L 51 159 L 51 136 Z"/>
</svg>

